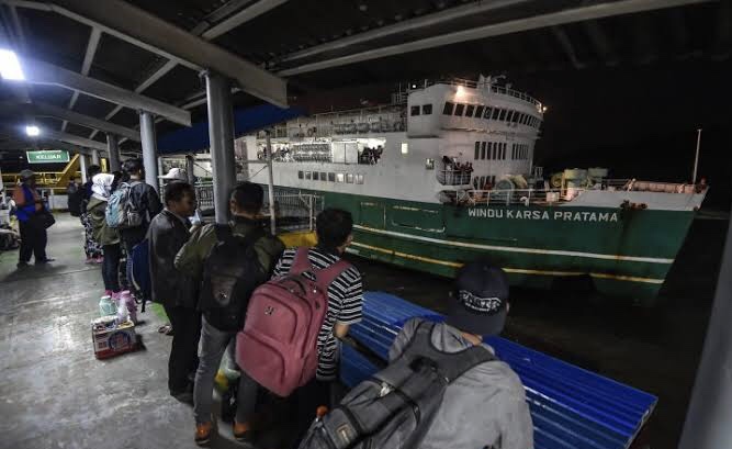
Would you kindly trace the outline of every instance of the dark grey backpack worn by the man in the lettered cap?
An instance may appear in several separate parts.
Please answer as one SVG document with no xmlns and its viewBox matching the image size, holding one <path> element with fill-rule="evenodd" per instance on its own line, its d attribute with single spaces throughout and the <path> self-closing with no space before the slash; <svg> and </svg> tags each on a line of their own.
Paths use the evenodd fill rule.
<svg viewBox="0 0 732 449">
<path fill-rule="evenodd" d="M 481 346 L 459 352 L 437 349 L 433 328 L 435 323 L 421 322 L 402 356 L 316 419 L 300 449 L 418 448 L 450 382 L 495 360 Z"/>
</svg>

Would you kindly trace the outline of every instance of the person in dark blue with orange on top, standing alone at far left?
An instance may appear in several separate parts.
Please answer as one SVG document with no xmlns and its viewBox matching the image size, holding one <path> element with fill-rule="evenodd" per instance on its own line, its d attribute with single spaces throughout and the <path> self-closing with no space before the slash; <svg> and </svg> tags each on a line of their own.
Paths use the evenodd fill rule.
<svg viewBox="0 0 732 449">
<path fill-rule="evenodd" d="M 13 191 L 15 215 L 21 232 L 21 249 L 18 268 L 27 267 L 31 256 L 35 255 L 36 263 L 47 263 L 54 259 L 46 256 L 46 228 L 37 222 L 36 216 L 45 205 L 41 194 L 35 189 L 35 173 L 31 170 L 20 172 L 21 184 Z"/>
</svg>

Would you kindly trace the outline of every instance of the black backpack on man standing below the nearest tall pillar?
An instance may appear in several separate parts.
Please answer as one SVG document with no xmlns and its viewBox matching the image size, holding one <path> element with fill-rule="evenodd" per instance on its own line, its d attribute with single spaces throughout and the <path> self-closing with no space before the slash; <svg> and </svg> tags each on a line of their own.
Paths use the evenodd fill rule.
<svg viewBox="0 0 732 449">
<path fill-rule="evenodd" d="M 206 321 L 224 332 L 244 327 L 251 292 L 264 280 L 254 244 L 264 235 L 257 227 L 246 237 L 236 236 L 228 225 L 215 225 L 216 245 L 203 270 L 199 308 Z"/>
</svg>

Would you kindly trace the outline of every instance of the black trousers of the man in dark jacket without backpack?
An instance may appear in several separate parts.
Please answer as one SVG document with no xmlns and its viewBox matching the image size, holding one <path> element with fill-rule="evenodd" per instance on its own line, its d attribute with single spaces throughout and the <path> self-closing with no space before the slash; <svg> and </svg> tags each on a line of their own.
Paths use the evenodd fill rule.
<svg viewBox="0 0 732 449">
<path fill-rule="evenodd" d="M 168 360 L 168 389 L 171 394 L 179 394 L 189 388 L 189 375 L 195 374 L 199 367 L 201 314 L 193 307 L 164 305 L 164 308 L 173 328 Z"/>
</svg>

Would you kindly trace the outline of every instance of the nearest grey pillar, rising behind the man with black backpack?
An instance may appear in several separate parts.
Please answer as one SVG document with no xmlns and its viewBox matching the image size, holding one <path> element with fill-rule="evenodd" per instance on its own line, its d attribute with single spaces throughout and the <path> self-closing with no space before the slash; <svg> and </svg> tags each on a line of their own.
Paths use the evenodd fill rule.
<svg viewBox="0 0 732 449">
<path fill-rule="evenodd" d="M 236 184 L 234 161 L 234 120 L 229 80 L 207 71 L 206 98 L 209 100 L 209 141 L 214 182 L 214 209 L 216 223 L 228 222 L 228 200 Z"/>
</svg>

